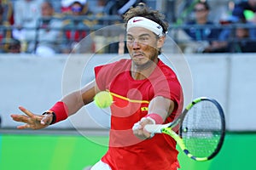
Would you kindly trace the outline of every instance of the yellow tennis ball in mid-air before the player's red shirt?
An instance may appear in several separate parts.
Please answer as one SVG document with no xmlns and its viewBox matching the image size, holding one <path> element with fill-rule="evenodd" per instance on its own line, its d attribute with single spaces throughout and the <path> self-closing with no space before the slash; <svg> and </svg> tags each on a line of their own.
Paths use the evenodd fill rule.
<svg viewBox="0 0 256 170">
<path fill-rule="evenodd" d="M 109 92 L 102 91 L 96 94 L 96 96 L 94 97 L 94 102 L 99 108 L 106 108 L 112 105 L 113 97 Z"/>
</svg>

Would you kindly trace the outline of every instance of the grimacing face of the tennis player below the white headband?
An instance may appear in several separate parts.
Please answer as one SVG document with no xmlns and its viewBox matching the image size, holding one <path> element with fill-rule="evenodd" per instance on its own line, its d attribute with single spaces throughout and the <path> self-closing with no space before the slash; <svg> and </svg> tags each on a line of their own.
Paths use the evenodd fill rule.
<svg viewBox="0 0 256 170">
<path fill-rule="evenodd" d="M 146 65 L 157 61 L 163 38 L 143 27 L 131 27 L 126 34 L 127 48 L 135 65 Z"/>
</svg>

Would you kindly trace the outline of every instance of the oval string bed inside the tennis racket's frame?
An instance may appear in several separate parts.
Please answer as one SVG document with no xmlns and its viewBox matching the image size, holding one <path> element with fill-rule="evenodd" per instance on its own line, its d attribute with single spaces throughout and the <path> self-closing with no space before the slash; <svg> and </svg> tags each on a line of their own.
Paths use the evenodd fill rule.
<svg viewBox="0 0 256 170">
<path fill-rule="evenodd" d="M 205 100 L 194 105 L 184 117 L 180 135 L 189 152 L 196 157 L 211 156 L 222 131 L 218 107 Z"/>
</svg>

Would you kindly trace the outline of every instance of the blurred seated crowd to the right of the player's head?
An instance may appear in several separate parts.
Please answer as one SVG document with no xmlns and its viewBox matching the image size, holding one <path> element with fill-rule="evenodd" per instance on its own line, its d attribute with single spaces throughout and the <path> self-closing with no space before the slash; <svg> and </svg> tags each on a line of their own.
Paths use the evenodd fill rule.
<svg viewBox="0 0 256 170">
<path fill-rule="evenodd" d="M 253 53 L 256 52 L 256 0 L 227 3 L 225 17 L 214 21 L 218 6 L 211 8 L 207 1 L 191 4 L 191 15 L 178 29 L 172 29 L 184 53 Z M 212 16 L 212 18 L 211 18 Z"/>
</svg>

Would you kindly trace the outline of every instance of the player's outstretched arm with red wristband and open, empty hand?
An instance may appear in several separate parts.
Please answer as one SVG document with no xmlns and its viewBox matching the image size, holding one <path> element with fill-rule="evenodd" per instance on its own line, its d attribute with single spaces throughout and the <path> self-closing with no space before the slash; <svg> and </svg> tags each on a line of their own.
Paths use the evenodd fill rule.
<svg viewBox="0 0 256 170">
<path fill-rule="evenodd" d="M 25 124 L 18 126 L 17 128 L 32 128 L 40 129 L 48 127 L 50 124 L 55 122 L 60 122 L 71 116 L 84 105 L 89 104 L 93 101 L 94 96 L 98 92 L 95 81 L 90 82 L 77 91 L 74 91 L 71 94 L 64 96 L 61 101 L 57 102 L 49 111 L 46 111 L 47 114 L 38 115 L 32 113 L 32 111 L 26 110 L 26 108 L 20 106 L 19 109 L 25 115 L 12 114 L 11 117 L 16 122 L 24 122 Z M 51 111 L 54 110 L 54 111 Z"/>
</svg>

